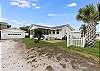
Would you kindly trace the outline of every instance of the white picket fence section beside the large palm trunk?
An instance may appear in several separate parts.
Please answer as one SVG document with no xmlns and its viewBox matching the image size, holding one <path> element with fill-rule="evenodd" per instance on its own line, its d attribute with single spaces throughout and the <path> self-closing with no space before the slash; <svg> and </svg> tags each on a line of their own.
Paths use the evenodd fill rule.
<svg viewBox="0 0 100 71">
<path fill-rule="evenodd" d="M 73 37 L 74 36 L 74 37 Z M 81 37 L 80 32 L 69 32 L 67 33 L 67 47 L 74 46 L 85 46 L 85 37 Z"/>
</svg>

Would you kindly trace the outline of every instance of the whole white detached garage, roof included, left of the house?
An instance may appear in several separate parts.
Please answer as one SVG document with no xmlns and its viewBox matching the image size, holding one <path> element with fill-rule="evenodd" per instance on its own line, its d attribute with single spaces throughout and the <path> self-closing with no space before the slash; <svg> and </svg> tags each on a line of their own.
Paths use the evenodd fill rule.
<svg viewBox="0 0 100 71">
<path fill-rule="evenodd" d="M 20 29 L 2 29 L 0 30 L 0 39 L 25 38 L 25 31 Z"/>
</svg>

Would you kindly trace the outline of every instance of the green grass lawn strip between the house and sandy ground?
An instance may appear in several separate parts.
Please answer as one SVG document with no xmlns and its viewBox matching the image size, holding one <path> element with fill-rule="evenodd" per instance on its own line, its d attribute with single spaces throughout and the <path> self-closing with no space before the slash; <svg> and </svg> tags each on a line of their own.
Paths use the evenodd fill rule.
<svg viewBox="0 0 100 71">
<path fill-rule="evenodd" d="M 36 44 L 33 42 L 32 39 L 30 38 L 24 38 L 23 42 L 26 44 L 27 48 L 31 48 L 31 47 L 58 47 L 58 48 L 62 48 L 64 50 L 66 50 L 66 52 L 69 53 L 78 53 L 82 56 L 88 57 L 88 58 L 92 58 L 96 61 L 98 61 L 100 59 L 100 40 L 96 41 L 96 46 L 95 47 L 75 47 L 75 46 L 70 46 L 67 47 L 66 45 L 66 41 L 64 40 L 58 40 L 57 41 L 40 41 L 40 43 Z M 53 43 L 52 43 L 53 42 Z"/>
</svg>

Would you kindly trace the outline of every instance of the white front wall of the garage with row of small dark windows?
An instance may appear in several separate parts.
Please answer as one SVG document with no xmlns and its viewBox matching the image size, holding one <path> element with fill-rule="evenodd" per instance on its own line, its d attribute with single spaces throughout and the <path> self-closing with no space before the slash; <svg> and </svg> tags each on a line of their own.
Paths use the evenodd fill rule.
<svg viewBox="0 0 100 71">
<path fill-rule="evenodd" d="M 1 39 L 13 39 L 13 38 L 25 38 L 25 32 L 16 32 L 16 30 L 15 31 L 1 30 Z"/>
</svg>

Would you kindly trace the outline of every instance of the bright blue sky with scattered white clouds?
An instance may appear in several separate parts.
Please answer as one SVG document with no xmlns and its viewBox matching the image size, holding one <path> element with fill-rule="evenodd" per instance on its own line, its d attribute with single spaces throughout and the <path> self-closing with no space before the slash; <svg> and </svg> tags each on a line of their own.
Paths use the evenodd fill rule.
<svg viewBox="0 0 100 71">
<path fill-rule="evenodd" d="M 70 24 L 78 30 L 82 22 L 76 20 L 78 10 L 99 0 L 0 0 L 1 20 L 13 27 L 39 24 L 57 26 Z M 99 31 L 97 26 L 97 31 Z"/>
</svg>

